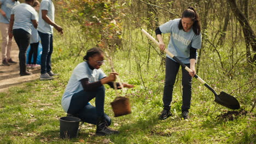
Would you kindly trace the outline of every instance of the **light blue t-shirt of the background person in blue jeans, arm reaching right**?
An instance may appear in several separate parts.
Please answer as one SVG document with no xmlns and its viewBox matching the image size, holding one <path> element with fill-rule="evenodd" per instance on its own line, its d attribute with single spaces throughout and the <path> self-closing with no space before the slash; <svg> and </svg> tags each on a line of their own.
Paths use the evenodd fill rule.
<svg viewBox="0 0 256 144">
<path fill-rule="evenodd" d="M 42 33 L 53 34 L 53 26 L 49 25 L 42 19 L 42 10 L 47 10 L 47 16 L 51 21 L 54 22 L 54 4 L 52 0 L 43 0 L 40 4 L 39 10 L 39 21 L 38 21 L 38 28 L 37 30 Z"/>
</svg>

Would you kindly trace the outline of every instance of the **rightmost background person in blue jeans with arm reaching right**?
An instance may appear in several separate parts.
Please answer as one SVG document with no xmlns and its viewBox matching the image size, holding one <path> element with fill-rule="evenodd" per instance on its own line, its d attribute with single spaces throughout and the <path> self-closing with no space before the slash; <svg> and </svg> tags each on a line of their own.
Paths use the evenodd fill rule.
<svg viewBox="0 0 256 144">
<path fill-rule="evenodd" d="M 40 80 L 54 79 L 54 74 L 51 70 L 51 54 L 53 53 L 53 27 L 63 33 L 62 27 L 54 22 L 54 4 L 52 0 L 42 0 L 39 10 L 38 34 L 42 43 L 41 55 L 41 75 Z"/>
</svg>

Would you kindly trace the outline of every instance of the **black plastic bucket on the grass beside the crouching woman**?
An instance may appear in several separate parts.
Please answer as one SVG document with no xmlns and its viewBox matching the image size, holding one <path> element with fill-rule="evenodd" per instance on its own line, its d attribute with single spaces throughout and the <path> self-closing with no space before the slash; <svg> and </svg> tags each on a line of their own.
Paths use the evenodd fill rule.
<svg viewBox="0 0 256 144">
<path fill-rule="evenodd" d="M 80 118 L 61 117 L 60 118 L 60 137 L 61 139 L 72 139 L 77 137 Z"/>
</svg>

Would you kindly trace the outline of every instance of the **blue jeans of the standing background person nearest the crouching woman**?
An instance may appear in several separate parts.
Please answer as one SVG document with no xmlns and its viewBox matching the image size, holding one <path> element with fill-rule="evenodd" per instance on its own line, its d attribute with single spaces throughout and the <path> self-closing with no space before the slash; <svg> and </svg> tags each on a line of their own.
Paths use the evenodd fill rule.
<svg viewBox="0 0 256 144">
<path fill-rule="evenodd" d="M 51 71 L 51 53 L 53 53 L 53 34 L 38 31 L 42 43 L 41 74 Z"/>
</svg>

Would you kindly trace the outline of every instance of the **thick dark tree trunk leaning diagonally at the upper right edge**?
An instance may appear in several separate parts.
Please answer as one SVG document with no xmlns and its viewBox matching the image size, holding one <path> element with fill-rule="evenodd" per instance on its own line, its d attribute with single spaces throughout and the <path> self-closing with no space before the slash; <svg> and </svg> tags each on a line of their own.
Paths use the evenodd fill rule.
<svg viewBox="0 0 256 144">
<path fill-rule="evenodd" d="M 238 9 L 236 1 L 235 0 L 227 0 L 230 4 L 230 8 L 233 11 L 233 13 L 236 16 L 236 19 L 239 21 L 240 25 L 243 29 L 243 35 L 245 36 L 245 42 L 246 44 L 250 44 L 252 46 L 253 53 L 256 52 L 256 39 L 254 32 L 252 30 L 252 27 L 250 26 L 248 20 L 246 19 L 246 16 L 242 13 L 240 9 Z M 247 12 L 246 12 L 247 13 Z M 248 14 L 248 13 L 247 13 Z M 249 63 L 253 63 L 256 61 L 256 55 L 251 56 L 251 52 L 247 52 L 248 57 L 247 60 Z"/>
</svg>

